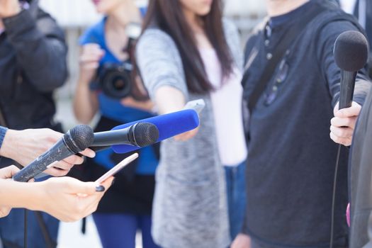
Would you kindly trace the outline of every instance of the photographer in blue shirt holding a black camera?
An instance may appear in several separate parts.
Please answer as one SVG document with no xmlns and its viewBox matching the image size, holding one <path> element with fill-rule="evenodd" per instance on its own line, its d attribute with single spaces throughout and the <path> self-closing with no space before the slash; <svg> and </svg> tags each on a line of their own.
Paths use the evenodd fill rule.
<svg viewBox="0 0 372 248">
<path fill-rule="evenodd" d="M 147 91 L 133 73 L 133 43 L 140 34 L 141 12 L 133 0 L 94 1 L 105 17 L 82 35 L 80 76 L 74 112 L 81 123 L 91 122 L 99 111 L 95 131 L 152 116 Z M 133 24 L 137 23 L 137 24 Z M 137 30 L 136 30 L 137 28 Z M 135 31 L 133 33 L 133 31 Z M 117 174 L 115 186 L 103 197 L 94 222 L 103 247 L 135 247 L 137 228 L 144 248 L 157 247 L 151 237 L 154 172 L 158 164 L 155 147 L 140 150 L 140 159 Z M 94 181 L 127 157 L 100 152 L 81 168 L 84 181 Z"/>
</svg>

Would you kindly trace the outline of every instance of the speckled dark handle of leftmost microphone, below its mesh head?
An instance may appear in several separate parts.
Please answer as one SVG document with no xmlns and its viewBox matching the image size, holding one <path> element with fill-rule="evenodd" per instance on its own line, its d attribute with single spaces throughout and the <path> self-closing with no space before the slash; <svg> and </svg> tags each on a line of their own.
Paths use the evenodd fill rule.
<svg viewBox="0 0 372 248">
<path fill-rule="evenodd" d="M 45 171 L 48 165 L 65 159 L 72 154 L 74 153 L 67 148 L 67 145 L 64 143 L 64 139 L 62 138 L 52 148 L 50 148 L 50 150 L 47 150 L 27 167 L 18 171 L 18 173 L 13 176 L 13 180 L 26 182 L 33 179 L 35 176 Z"/>
</svg>

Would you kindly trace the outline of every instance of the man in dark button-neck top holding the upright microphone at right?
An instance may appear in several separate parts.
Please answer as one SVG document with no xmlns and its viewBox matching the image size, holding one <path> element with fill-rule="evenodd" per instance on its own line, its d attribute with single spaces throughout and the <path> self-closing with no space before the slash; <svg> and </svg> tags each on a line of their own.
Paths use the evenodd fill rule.
<svg viewBox="0 0 372 248">
<path fill-rule="evenodd" d="M 269 18 L 246 45 L 242 81 L 248 103 L 257 85 L 267 83 L 255 106 L 249 105 L 242 232 L 251 237 L 252 248 L 329 247 L 335 142 L 350 145 L 356 116 L 371 87 L 366 72 L 359 72 L 353 105 L 337 111 L 341 75 L 333 47 L 339 34 L 361 27 L 329 1 L 267 0 L 266 8 Z M 283 56 L 275 57 L 288 39 Z M 276 59 L 275 70 L 264 73 L 266 64 Z M 261 74 L 270 77 L 264 81 Z M 342 147 L 334 210 L 337 248 L 348 247 L 348 154 Z"/>
</svg>

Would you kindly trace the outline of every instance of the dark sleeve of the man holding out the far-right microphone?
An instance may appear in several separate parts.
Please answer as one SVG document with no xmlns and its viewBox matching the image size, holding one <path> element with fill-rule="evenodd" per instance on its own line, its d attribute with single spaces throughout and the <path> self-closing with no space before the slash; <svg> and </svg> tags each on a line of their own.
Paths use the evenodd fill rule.
<svg viewBox="0 0 372 248">
<path fill-rule="evenodd" d="M 349 21 L 334 21 L 327 24 L 321 31 L 317 39 L 317 56 L 321 71 L 327 81 L 327 87 L 329 94 L 332 96 L 332 106 L 335 106 L 339 101 L 340 81 L 341 74 L 340 69 L 337 67 L 333 56 L 334 42 L 338 35 L 346 30 L 358 30 Z M 371 81 L 368 79 L 366 69 L 361 69 L 356 77 L 354 99 L 356 103 L 363 105 L 364 99 L 366 98 L 369 89 L 371 88 Z"/>
</svg>

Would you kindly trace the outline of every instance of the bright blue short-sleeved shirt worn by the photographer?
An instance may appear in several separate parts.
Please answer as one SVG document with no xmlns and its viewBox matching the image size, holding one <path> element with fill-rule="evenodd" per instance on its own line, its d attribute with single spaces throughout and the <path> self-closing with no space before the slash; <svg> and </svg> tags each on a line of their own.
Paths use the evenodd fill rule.
<svg viewBox="0 0 372 248">
<path fill-rule="evenodd" d="M 106 45 L 105 39 L 105 25 L 106 25 L 107 18 L 103 18 L 101 21 L 96 23 L 94 26 L 91 26 L 86 32 L 81 35 L 79 39 L 80 45 L 86 45 L 88 43 L 96 43 L 98 44 L 102 50 L 105 51 L 105 55 L 103 55 L 100 61 L 100 67 L 106 63 L 118 63 L 120 64 L 120 60 L 118 60 L 115 55 L 109 50 L 108 46 Z M 145 118 L 150 118 L 153 115 L 147 111 L 142 111 L 138 108 L 131 108 L 128 106 L 123 106 L 120 103 L 120 100 L 111 98 L 103 94 L 102 92 L 98 93 L 98 102 L 99 102 L 99 111 L 101 115 L 105 116 L 106 118 L 110 118 L 112 120 L 116 120 L 120 123 L 128 123 L 135 120 L 141 120 Z M 103 152 L 98 152 L 95 157 L 95 162 L 101 164 L 101 166 L 111 169 L 115 166 L 115 162 L 111 160 L 111 154 L 113 153 L 112 150 L 105 150 Z M 154 174 L 156 167 L 158 164 L 158 160 L 156 155 L 154 154 L 154 150 L 152 147 L 144 147 L 140 150 L 140 157 L 138 158 L 137 163 L 137 174 Z"/>
</svg>

